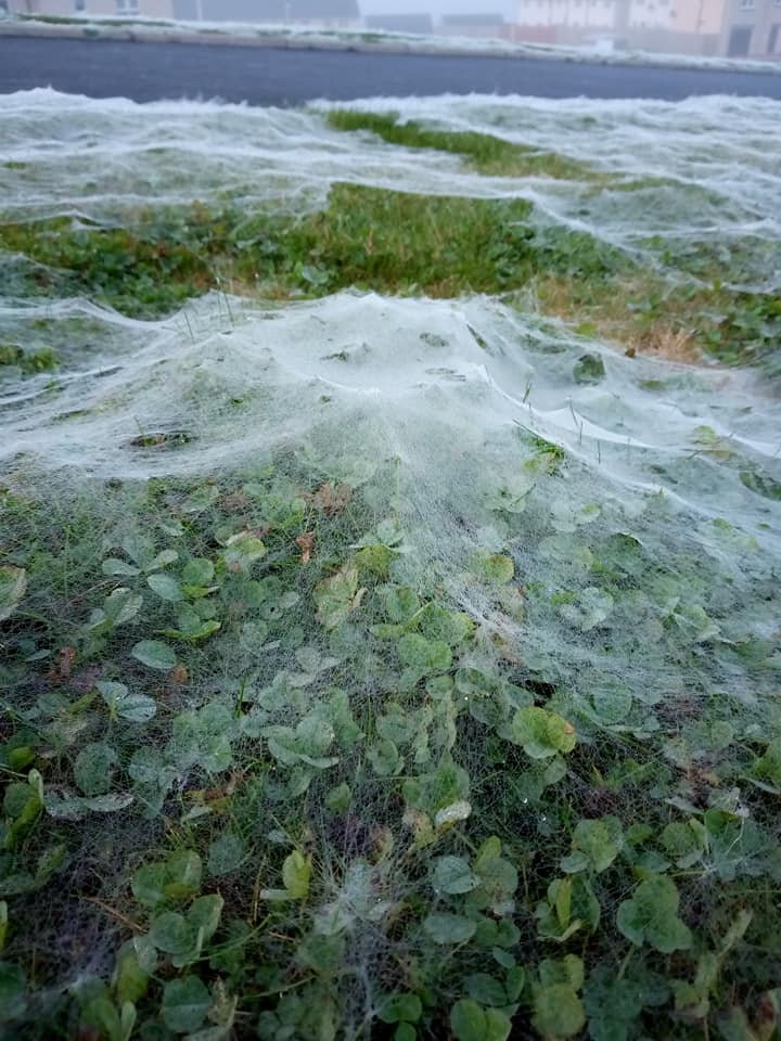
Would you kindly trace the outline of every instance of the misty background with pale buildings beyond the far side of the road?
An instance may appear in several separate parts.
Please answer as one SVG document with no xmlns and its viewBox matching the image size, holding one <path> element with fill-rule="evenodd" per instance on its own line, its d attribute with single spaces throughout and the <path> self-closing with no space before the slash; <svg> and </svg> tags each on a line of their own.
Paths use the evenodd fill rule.
<svg viewBox="0 0 781 1041">
<path fill-rule="evenodd" d="M 0 0 L 27 17 L 284 24 L 781 62 L 781 0 Z"/>
</svg>

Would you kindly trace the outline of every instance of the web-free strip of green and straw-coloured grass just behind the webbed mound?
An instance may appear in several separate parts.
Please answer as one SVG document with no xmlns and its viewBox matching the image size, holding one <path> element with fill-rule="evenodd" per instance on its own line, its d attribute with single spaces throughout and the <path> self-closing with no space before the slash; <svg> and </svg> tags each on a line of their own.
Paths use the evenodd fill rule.
<svg viewBox="0 0 781 1041">
<path fill-rule="evenodd" d="M 120 228 L 7 223 L 0 249 L 31 261 L 10 277 L 17 296 L 82 294 L 140 318 L 208 288 L 278 300 L 350 286 L 431 297 L 525 290 L 523 306 L 534 291 L 543 313 L 629 351 L 727 364 L 769 358 L 781 322 L 777 294 L 730 288 L 713 262 L 709 282 L 684 283 L 687 256 L 677 269 L 668 252 L 660 270 L 588 233 L 538 227 L 522 200 L 336 184 L 325 209 L 300 218 L 196 203 L 141 210 Z M 13 357 L 11 345 L 0 363 Z"/>
</svg>

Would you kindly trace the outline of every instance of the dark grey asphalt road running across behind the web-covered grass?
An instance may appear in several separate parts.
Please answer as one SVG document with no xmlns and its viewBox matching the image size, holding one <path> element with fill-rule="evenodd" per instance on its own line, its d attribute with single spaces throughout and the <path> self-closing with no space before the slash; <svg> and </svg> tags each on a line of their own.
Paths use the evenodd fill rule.
<svg viewBox="0 0 781 1041">
<path fill-rule="evenodd" d="M 0 93 L 47 86 L 91 98 L 123 95 L 139 102 L 220 98 L 255 105 L 298 105 L 317 98 L 347 101 L 379 94 L 472 91 L 666 101 L 714 93 L 781 99 L 781 76 L 767 73 L 540 59 L 0 37 Z"/>
</svg>

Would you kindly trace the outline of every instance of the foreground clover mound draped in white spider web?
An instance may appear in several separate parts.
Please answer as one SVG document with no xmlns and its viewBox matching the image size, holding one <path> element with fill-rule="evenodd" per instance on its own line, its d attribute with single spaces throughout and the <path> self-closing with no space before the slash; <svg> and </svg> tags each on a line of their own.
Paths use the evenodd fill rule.
<svg viewBox="0 0 781 1041">
<path fill-rule="evenodd" d="M 481 297 L 89 318 L 2 419 L 11 1036 L 751 1014 L 777 402 Z"/>
</svg>

